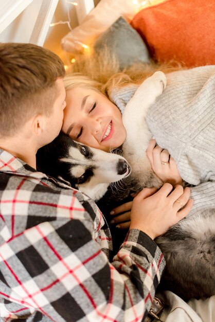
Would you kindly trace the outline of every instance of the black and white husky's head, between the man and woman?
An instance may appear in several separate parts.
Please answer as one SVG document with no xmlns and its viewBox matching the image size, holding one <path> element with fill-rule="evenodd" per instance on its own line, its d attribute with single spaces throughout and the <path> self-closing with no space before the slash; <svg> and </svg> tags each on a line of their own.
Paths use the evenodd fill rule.
<svg viewBox="0 0 215 322">
<path fill-rule="evenodd" d="M 110 183 L 131 172 L 127 160 L 82 145 L 64 133 L 37 152 L 37 169 L 68 182 L 93 200 L 102 198 Z"/>
</svg>

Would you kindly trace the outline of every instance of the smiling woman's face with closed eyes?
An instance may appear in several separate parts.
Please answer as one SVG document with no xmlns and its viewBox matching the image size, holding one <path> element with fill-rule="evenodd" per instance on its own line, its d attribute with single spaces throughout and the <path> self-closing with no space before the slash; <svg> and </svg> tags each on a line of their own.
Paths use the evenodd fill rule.
<svg viewBox="0 0 215 322">
<path fill-rule="evenodd" d="M 117 106 L 87 87 L 66 91 L 62 131 L 76 141 L 104 151 L 118 148 L 126 139 Z"/>
</svg>

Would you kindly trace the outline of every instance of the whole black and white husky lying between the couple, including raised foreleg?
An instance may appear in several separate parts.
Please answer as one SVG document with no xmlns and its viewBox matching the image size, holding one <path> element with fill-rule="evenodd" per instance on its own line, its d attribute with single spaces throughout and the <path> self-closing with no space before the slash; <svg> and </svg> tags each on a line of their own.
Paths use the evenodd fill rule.
<svg viewBox="0 0 215 322">
<path fill-rule="evenodd" d="M 128 177 L 129 181 L 126 183 L 127 189 L 123 189 L 123 193 L 120 191 L 120 199 L 127 196 L 131 188 L 137 191 L 143 187 L 159 188 L 162 182 L 153 173 L 146 155 L 151 134 L 145 117 L 149 106 L 162 94 L 165 86 L 165 75 L 155 73 L 138 87 L 123 113 L 127 139 L 122 150 L 131 165 L 131 176 L 128 177 L 130 168 L 123 157 L 88 148 L 63 134 L 38 151 L 38 169 L 62 177 L 94 200 L 104 195 L 111 182 L 124 177 Z M 144 102 L 138 106 L 140 97 L 144 97 Z M 87 153 L 83 153 L 83 148 Z M 112 171 L 114 174 L 111 174 Z M 119 199 L 120 194 L 115 198 Z M 214 212 L 206 211 L 188 216 L 157 238 L 156 242 L 167 261 L 162 280 L 165 289 L 185 300 L 215 294 L 214 233 Z"/>
</svg>

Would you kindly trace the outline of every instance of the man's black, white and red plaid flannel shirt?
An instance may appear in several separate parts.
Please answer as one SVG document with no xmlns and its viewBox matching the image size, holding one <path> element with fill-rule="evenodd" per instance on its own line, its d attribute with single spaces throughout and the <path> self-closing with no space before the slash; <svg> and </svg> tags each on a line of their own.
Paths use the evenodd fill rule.
<svg viewBox="0 0 215 322">
<path fill-rule="evenodd" d="M 138 229 L 113 257 L 96 204 L 0 150 L 1 321 L 141 321 L 165 266 Z"/>
</svg>

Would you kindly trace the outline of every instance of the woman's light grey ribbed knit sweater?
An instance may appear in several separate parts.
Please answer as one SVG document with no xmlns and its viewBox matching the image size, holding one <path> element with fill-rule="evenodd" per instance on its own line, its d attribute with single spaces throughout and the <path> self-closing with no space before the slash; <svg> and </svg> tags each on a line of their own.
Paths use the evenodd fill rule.
<svg viewBox="0 0 215 322">
<path fill-rule="evenodd" d="M 167 87 L 150 107 L 147 123 L 169 151 L 191 188 L 191 212 L 215 209 L 215 65 L 167 74 Z M 136 86 L 115 88 L 111 100 L 123 113 Z"/>
</svg>

